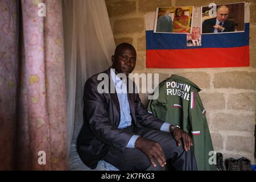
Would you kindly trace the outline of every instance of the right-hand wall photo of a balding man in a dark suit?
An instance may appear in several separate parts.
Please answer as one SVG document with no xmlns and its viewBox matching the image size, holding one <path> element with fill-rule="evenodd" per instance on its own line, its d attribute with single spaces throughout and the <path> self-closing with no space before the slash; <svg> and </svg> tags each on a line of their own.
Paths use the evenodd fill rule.
<svg viewBox="0 0 256 182">
<path fill-rule="evenodd" d="M 202 34 L 245 31 L 245 2 L 201 7 Z"/>
</svg>

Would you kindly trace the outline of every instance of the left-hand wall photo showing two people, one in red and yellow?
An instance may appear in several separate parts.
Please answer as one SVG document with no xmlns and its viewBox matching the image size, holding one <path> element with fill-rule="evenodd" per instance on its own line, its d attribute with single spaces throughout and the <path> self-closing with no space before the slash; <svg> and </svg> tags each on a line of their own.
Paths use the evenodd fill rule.
<svg viewBox="0 0 256 182">
<path fill-rule="evenodd" d="M 155 14 L 154 33 L 191 32 L 193 6 L 158 7 Z"/>
</svg>

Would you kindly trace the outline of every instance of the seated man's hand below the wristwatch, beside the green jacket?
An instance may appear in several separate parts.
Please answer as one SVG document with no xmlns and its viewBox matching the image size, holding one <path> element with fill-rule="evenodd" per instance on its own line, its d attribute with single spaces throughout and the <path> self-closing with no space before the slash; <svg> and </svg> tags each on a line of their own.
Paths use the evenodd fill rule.
<svg viewBox="0 0 256 182">
<path fill-rule="evenodd" d="M 177 145 L 180 146 L 181 144 L 181 138 L 183 140 L 184 150 L 187 152 L 190 150 L 190 147 L 193 146 L 192 138 L 186 133 L 185 131 L 179 129 L 178 127 L 175 127 L 172 130 L 172 135 L 174 136 Z"/>
</svg>

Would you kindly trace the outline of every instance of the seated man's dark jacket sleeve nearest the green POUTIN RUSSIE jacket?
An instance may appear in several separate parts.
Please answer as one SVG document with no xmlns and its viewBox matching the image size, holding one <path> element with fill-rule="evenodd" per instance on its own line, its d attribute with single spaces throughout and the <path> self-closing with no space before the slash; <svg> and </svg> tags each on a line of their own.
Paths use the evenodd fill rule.
<svg viewBox="0 0 256 182">
<path fill-rule="evenodd" d="M 144 127 L 148 127 L 150 129 L 160 130 L 160 127 L 163 125 L 163 121 L 161 119 L 155 118 L 152 113 L 149 113 L 147 109 L 141 102 L 141 98 L 139 98 L 139 94 L 135 96 L 135 115 L 137 121 Z"/>
</svg>

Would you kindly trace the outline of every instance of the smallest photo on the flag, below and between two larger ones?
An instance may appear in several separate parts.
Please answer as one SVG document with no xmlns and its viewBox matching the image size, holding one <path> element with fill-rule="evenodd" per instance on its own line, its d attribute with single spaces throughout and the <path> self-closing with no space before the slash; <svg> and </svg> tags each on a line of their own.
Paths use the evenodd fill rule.
<svg viewBox="0 0 256 182">
<path fill-rule="evenodd" d="M 191 34 L 187 34 L 187 46 L 201 46 L 200 27 L 192 27 Z"/>
</svg>

